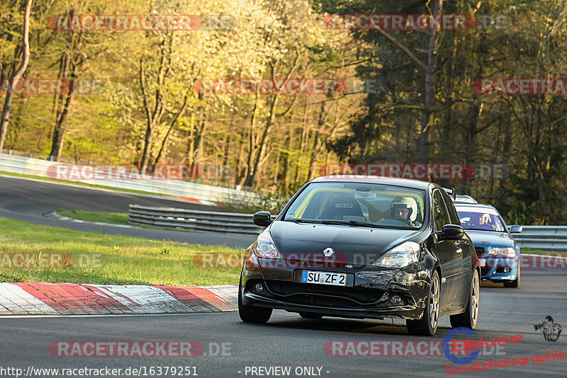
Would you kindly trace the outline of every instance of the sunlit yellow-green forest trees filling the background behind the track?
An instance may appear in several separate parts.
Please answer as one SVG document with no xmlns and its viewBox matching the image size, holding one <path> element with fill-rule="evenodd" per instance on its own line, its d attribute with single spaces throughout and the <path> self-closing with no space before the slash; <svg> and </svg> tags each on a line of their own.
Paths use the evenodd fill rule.
<svg viewBox="0 0 567 378">
<path fill-rule="evenodd" d="M 565 96 L 473 91 L 479 78 L 564 78 L 566 4 L 554 0 L 443 3 L 443 13 L 503 15 L 508 22 L 504 28 L 438 33 L 429 161 L 505 164 L 507 175 L 439 183 L 492 203 L 509 222 L 567 222 Z M 293 191 L 318 176 L 326 164 L 417 160 L 425 73 L 391 38 L 426 64 L 430 34 L 387 30 L 391 38 L 386 38 L 376 30 L 329 30 L 322 20 L 328 13 L 429 13 L 432 1 L 37 0 L 33 4 L 28 79 L 60 75 L 69 34 L 47 28 L 47 19 L 67 14 L 71 7 L 84 14 L 223 13 L 237 21 L 231 30 L 84 32 L 77 44 L 84 59 L 79 76 L 104 79 L 107 84 L 103 93 L 74 94 L 64 159 L 133 164 L 140 161 L 147 144 L 150 163 L 163 150 L 159 163 L 198 165 L 203 172 L 205 166 L 224 167 L 222 171 L 229 172 L 202 173 L 192 181 L 232 188 L 254 185 L 253 190 L 264 193 L 257 202 L 229 199 L 235 201 L 231 210 L 242 212 L 279 211 Z M 21 57 L 20 12 L 18 1 L 0 5 L 2 77 Z M 140 62 L 145 68 L 147 103 Z M 245 91 L 199 96 L 194 86 L 198 79 L 272 76 L 372 81 L 376 93 L 255 96 Z M 184 113 L 176 118 L 185 96 Z M 5 147 L 48 154 L 55 104 L 55 96 L 16 95 Z M 152 138 L 146 141 L 148 129 Z M 255 182 L 250 183 L 247 177 L 254 172 Z"/>
</svg>

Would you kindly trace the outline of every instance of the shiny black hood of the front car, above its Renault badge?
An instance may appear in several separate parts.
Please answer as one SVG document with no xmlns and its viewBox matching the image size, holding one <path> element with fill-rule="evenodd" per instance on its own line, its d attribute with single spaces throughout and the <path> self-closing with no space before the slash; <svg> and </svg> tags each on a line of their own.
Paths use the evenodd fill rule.
<svg viewBox="0 0 567 378">
<path fill-rule="evenodd" d="M 283 257 L 290 253 L 317 253 L 323 256 L 322 251 L 330 247 L 335 253 L 346 255 L 349 261 L 352 261 L 355 253 L 378 258 L 421 232 L 284 221 L 274 222 L 269 231 Z"/>
</svg>

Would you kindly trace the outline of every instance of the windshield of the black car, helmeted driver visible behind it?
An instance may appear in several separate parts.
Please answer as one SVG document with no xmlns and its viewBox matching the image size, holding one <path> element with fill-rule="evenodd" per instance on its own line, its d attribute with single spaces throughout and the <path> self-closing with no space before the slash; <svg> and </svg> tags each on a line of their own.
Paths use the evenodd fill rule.
<svg viewBox="0 0 567 378">
<path fill-rule="evenodd" d="M 284 221 L 354 227 L 418 229 L 425 192 L 371 183 L 311 183 L 293 201 Z"/>
</svg>

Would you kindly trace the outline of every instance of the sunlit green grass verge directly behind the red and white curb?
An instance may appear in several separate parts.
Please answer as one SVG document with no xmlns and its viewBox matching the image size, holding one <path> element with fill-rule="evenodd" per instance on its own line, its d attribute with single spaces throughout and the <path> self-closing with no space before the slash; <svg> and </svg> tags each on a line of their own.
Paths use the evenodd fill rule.
<svg viewBox="0 0 567 378">
<path fill-rule="evenodd" d="M 240 255 L 243 252 L 225 246 L 200 246 L 81 232 L 3 217 L 0 217 L 0 229 L 2 282 L 226 285 L 237 284 L 240 274 L 240 268 L 205 269 L 193 265 L 196 253 Z M 23 256 L 28 261 L 35 258 L 47 262 L 43 265 L 51 268 L 40 268 L 38 265 L 13 268 L 14 265 L 22 266 Z M 64 268 L 52 268 L 54 266 Z"/>
</svg>

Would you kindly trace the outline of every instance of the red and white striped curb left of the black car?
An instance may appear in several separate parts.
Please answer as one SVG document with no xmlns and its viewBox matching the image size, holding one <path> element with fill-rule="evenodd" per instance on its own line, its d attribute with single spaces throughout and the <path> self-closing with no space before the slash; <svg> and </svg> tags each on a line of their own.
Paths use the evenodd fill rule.
<svg viewBox="0 0 567 378">
<path fill-rule="evenodd" d="M 0 282 L 0 314 L 179 314 L 235 311 L 237 285 L 142 286 Z"/>
</svg>

